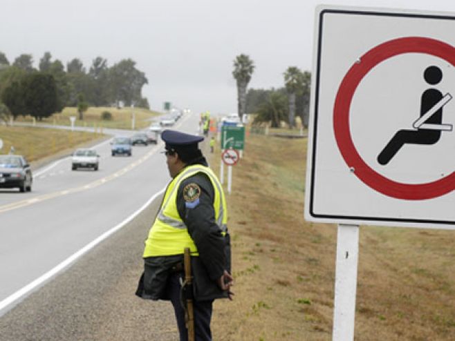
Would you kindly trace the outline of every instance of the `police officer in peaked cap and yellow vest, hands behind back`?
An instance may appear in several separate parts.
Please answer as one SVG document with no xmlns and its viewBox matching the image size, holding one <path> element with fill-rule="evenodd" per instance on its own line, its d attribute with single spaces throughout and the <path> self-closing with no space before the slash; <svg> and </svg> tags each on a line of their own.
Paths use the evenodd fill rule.
<svg viewBox="0 0 455 341">
<path fill-rule="evenodd" d="M 187 340 L 183 250 L 192 254 L 194 332 L 212 340 L 210 320 L 216 298 L 232 299 L 230 237 L 223 188 L 198 148 L 203 137 L 164 130 L 167 168 L 172 179 L 145 241 L 145 270 L 136 295 L 170 300 L 180 341 Z M 188 295 L 188 293 L 186 293 Z"/>
</svg>

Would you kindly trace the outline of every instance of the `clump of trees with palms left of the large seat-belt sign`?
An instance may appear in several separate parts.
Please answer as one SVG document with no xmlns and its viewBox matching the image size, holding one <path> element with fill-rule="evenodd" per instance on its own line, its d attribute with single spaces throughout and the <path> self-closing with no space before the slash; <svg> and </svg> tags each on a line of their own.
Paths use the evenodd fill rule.
<svg viewBox="0 0 455 341">
<path fill-rule="evenodd" d="M 302 124 L 308 127 L 310 72 L 302 72 L 297 66 L 290 66 L 283 74 L 283 88 L 249 89 L 247 92 L 254 67 L 254 61 L 248 55 L 241 54 L 234 59 L 232 76 L 236 79 L 239 116 L 255 113 L 257 115 L 253 123 L 270 121 L 272 127 L 278 127 L 281 121 L 286 121 L 293 128 L 297 115 Z"/>
</svg>

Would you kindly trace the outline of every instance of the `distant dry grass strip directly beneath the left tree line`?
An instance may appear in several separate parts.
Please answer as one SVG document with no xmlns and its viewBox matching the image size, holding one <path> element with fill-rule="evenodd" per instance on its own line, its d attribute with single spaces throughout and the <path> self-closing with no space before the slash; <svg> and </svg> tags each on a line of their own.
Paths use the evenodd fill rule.
<svg viewBox="0 0 455 341">
<path fill-rule="evenodd" d="M 102 113 L 104 111 L 109 111 L 112 115 L 111 120 L 103 120 Z M 131 118 L 132 115 L 135 115 L 135 128 L 146 128 L 150 125 L 150 120 L 154 117 L 160 115 L 155 111 L 143 109 L 143 108 L 107 108 L 107 107 L 89 107 L 84 113 L 84 121 L 79 120 L 79 114 L 77 113 L 77 108 L 67 107 L 62 110 L 62 113 L 55 113 L 51 117 L 43 119 L 42 122 L 46 124 L 57 124 L 70 126 L 71 121 L 70 116 L 75 116 L 76 126 L 86 126 L 86 127 L 104 127 L 104 128 L 120 128 L 120 129 L 131 129 Z M 18 117 L 18 121 L 27 121 L 31 122 L 32 117 Z"/>
</svg>

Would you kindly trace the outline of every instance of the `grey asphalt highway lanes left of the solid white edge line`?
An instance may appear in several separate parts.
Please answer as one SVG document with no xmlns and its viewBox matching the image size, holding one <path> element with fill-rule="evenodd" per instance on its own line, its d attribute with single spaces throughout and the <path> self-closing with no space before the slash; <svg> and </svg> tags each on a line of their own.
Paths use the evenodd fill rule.
<svg viewBox="0 0 455 341">
<path fill-rule="evenodd" d="M 130 217 L 169 182 L 162 143 L 134 147 L 131 157 L 112 157 L 108 142 L 96 149 L 99 171 L 71 171 L 71 159 L 61 159 L 34 173 L 32 192 L 0 191 L 0 316 L 5 300 Z"/>
</svg>

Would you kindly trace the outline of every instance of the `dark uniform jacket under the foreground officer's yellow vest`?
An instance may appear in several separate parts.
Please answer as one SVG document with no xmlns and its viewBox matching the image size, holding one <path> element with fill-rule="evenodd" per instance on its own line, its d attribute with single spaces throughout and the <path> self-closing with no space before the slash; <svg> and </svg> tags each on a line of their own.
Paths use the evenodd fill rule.
<svg viewBox="0 0 455 341">
<path fill-rule="evenodd" d="M 195 164 L 207 166 L 204 158 Z M 197 184 L 201 188 L 196 206 L 187 204 L 183 199 L 183 188 L 188 184 Z M 231 270 L 230 236 L 227 231 L 223 236 L 216 224 L 213 203 L 214 188 L 204 173 L 188 177 L 178 187 L 178 214 L 199 253 L 199 257 L 192 257 L 194 299 L 198 301 L 228 298 L 228 292 L 221 291 L 216 280 L 225 270 Z M 172 271 L 183 271 L 182 264 L 183 255 L 145 258 L 145 270 L 136 295 L 151 300 L 169 300 L 166 295 L 167 277 Z"/>
</svg>

